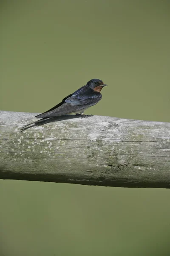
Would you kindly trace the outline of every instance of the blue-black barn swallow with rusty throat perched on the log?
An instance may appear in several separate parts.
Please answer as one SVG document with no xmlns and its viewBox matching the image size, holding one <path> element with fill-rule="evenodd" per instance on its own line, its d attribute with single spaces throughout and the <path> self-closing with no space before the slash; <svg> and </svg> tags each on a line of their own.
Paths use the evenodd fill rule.
<svg viewBox="0 0 170 256">
<path fill-rule="evenodd" d="M 62 99 L 62 102 L 35 117 L 47 119 L 49 117 L 62 116 L 71 113 L 80 114 L 82 117 L 88 117 L 89 115 L 85 115 L 84 111 L 91 106 L 96 105 L 102 99 L 102 94 L 100 92 L 104 86 L 107 86 L 107 84 L 104 84 L 102 80 L 91 79 L 86 85 Z"/>
</svg>

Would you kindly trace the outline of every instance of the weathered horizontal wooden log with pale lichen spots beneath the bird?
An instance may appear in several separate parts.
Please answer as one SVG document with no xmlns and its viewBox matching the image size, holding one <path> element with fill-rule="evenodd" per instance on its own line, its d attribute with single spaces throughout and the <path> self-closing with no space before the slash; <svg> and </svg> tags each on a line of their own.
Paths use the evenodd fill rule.
<svg viewBox="0 0 170 256">
<path fill-rule="evenodd" d="M 0 111 L 1 179 L 170 188 L 170 123 L 36 114 Z"/>
</svg>

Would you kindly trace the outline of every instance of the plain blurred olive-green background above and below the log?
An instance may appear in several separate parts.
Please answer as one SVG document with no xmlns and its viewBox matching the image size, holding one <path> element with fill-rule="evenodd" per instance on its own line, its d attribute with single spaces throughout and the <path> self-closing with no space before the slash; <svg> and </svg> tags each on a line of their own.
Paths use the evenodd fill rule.
<svg viewBox="0 0 170 256">
<path fill-rule="evenodd" d="M 0 110 L 170 122 L 169 0 L 1 0 Z M 0 256 L 169 256 L 170 190 L 0 180 Z"/>
</svg>

